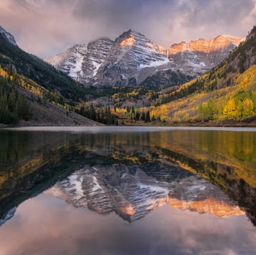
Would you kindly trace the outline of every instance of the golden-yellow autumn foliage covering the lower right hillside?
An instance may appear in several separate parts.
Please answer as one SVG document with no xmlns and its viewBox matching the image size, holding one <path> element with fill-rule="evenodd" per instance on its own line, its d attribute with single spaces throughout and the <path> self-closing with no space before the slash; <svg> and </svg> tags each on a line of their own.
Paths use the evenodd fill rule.
<svg viewBox="0 0 256 255">
<path fill-rule="evenodd" d="M 225 70 L 225 65 L 218 72 Z M 203 75 L 206 80 L 208 75 Z M 227 79 L 230 77 L 227 77 Z M 178 90 L 190 86 L 187 82 Z M 218 79 L 218 84 L 223 80 Z M 210 92 L 196 92 L 188 97 L 155 107 L 151 114 L 166 121 L 187 121 L 210 116 L 213 119 L 245 119 L 256 115 L 256 65 L 244 73 L 233 74 L 234 85 Z M 202 109 L 205 109 L 202 111 Z M 206 115 L 203 115 L 202 112 Z"/>
</svg>

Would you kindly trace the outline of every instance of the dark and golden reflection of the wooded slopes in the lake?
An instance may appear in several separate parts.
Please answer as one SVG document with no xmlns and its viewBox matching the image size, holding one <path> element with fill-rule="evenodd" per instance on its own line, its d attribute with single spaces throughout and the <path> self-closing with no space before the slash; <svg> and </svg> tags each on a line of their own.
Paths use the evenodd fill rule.
<svg viewBox="0 0 256 255">
<path fill-rule="evenodd" d="M 201 175 L 224 190 L 255 224 L 256 134 L 163 131 L 117 134 L 0 132 L 1 217 L 23 200 L 83 166 L 143 166 L 144 173 L 171 183 Z"/>
</svg>

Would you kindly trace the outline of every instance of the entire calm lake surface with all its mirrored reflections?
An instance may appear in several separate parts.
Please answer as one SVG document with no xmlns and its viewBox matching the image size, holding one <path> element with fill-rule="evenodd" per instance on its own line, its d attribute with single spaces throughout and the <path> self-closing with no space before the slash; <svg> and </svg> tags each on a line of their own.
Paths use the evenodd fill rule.
<svg viewBox="0 0 256 255">
<path fill-rule="evenodd" d="M 256 254 L 256 129 L 0 130 L 0 255 Z"/>
</svg>

